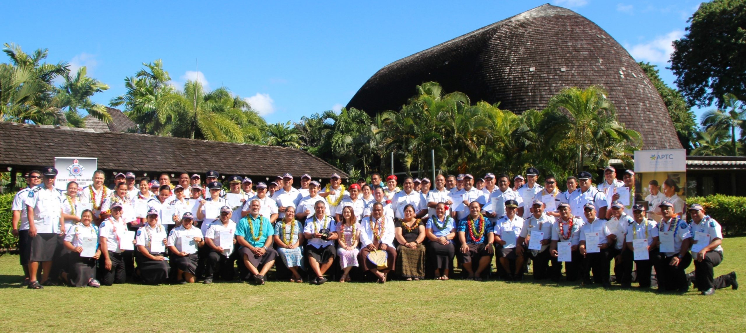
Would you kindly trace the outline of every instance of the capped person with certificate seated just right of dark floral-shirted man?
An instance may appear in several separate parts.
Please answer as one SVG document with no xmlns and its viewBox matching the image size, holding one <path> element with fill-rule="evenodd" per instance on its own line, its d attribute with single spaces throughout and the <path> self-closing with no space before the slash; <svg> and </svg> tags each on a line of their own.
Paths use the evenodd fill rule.
<svg viewBox="0 0 746 333">
<path fill-rule="evenodd" d="M 520 281 L 523 279 L 521 269 L 524 263 L 524 244 L 518 243 L 518 235 L 523 229 L 523 218 L 518 217 L 518 201 L 508 199 L 505 201 L 505 215 L 495 222 L 495 247 L 498 250 L 498 261 L 506 274 L 508 281 Z M 509 237 L 511 239 L 509 239 Z M 513 243 L 505 247 L 507 241 Z M 514 269 L 510 269 L 513 261 Z"/>
</svg>

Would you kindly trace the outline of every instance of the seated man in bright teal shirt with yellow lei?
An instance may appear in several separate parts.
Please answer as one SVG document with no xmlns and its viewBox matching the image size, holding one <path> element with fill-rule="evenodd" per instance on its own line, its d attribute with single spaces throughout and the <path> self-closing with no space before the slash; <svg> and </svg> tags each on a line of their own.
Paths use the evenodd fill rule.
<svg viewBox="0 0 746 333">
<path fill-rule="evenodd" d="M 249 203 L 249 214 L 236 225 L 236 243 L 241 246 L 238 250 L 243 267 L 253 276 L 258 284 L 264 284 L 266 274 L 275 265 L 278 252 L 272 249 L 272 239 L 275 229 L 269 219 L 259 214 L 262 204 L 258 199 Z M 239 266 L 239 272 L 243 271 Z M 261 269 L 261 271 L 260 271 Z M 243 275 L 242 278 L 249 278 Z"/>
</svg>

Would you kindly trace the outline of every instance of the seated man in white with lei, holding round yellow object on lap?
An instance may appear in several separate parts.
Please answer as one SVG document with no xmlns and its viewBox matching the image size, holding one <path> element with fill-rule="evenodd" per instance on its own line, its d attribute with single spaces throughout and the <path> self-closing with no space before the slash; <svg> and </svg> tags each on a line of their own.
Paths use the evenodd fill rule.
<svg viewBox="0 0 746 333">
<path fill-rule="evenodd" d="M 378 283 L 385 283 L 386 276 L 395 268 L 396 249 L 394 247 L 394 220 L 383 214 L 383 204 L 375 202 L 371 207 L 371 216 L 363 219 L 360 223 L 363 230 L 360 231 L 360 249 L 358 262 L 363 264 L 363 270 L 369 270 L 378 278 Z M 386 251 L 386 268 L 378 269 L 378 265 L 368 258 L 370 252 L 380 250 Z"/>
</svg>

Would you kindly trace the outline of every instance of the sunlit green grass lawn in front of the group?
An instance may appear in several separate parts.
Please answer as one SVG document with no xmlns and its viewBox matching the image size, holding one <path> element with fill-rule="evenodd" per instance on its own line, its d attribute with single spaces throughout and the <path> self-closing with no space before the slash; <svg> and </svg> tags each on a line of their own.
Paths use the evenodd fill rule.
<svg viewBox="0 0 746 333">
<path fill-rule="evenodd" d="M 723 242 L 715 276 L 746 282 L 746 237 Z M 690 267 L 694 270 L 694 266 Z M 689 270 L 687 270 L 689 271 Z M 269 281 L 264 286 L 19 287 L 0 257 L 0 332 L 728 332 L 746 330 L 744 290 L 715 296 L 524 281 Z"/>
</svg>

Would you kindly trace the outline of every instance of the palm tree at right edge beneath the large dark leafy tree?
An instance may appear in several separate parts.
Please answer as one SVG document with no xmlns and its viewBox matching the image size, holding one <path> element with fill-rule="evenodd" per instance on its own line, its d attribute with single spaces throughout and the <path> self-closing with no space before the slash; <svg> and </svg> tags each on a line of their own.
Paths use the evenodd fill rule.
<svg viewBox="0 0 746 333">
<path fill-rule="evenodd" d="M 727 93 L 723 96 L 725 110 L 710 110 L 702 114 L 702 125 L 709 130 L 730 132 L 730 156 L 738 155 L 736 149 L 736 128 L 740 128 L 741 136 L 746 131 L 746 108 L 736 95 Z"/>
</svg>

